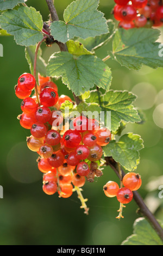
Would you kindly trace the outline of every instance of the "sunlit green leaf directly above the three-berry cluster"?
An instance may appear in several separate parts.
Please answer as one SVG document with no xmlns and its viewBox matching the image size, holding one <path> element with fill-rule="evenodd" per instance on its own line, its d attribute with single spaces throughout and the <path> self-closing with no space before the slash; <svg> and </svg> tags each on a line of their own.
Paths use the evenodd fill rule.
<svg viewBox="0 0 163 256">
<path fill-rule="evenodd" d="M 143 141 L 139 135 L 127 133 L 118 142 L 110 141 L 103 147 L 104 156 L 112 158 L 121 164 L 126 170 L 132 171 L 139 163 L 139 150 L 143 148 Z"/>
</svg>

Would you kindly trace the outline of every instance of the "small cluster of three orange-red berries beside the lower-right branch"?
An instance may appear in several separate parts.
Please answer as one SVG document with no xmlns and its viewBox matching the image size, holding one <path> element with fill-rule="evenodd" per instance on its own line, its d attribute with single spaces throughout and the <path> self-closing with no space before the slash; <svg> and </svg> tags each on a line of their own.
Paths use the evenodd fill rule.
<svg viewBox="0 0 163 256">
<path fill-rule="evenodd" d="M 122 184 L 120 188 L 115 181 L 108 181 L 103 190 L 107 197 L 117 197 L 118 202 L 128 204 L 133 199 L 133 191 L 141 187 L 141 176 L 134 172 L 127 173 L 123 176 Z"/>
</svg>

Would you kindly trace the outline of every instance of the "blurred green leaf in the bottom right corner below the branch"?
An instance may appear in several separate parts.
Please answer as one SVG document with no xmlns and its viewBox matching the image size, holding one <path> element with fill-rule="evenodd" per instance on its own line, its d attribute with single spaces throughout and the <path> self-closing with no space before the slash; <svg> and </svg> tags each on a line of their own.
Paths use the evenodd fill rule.
<svg viewBox="0 0 163 256">
<path fill-rule="evenodd" d="M 160 223 L 163 228 L 163 224 Z M 160 237 L 145 218 L 134 222 L 134 233 L 122 245 L 163 245 Z"/>
</svg>

